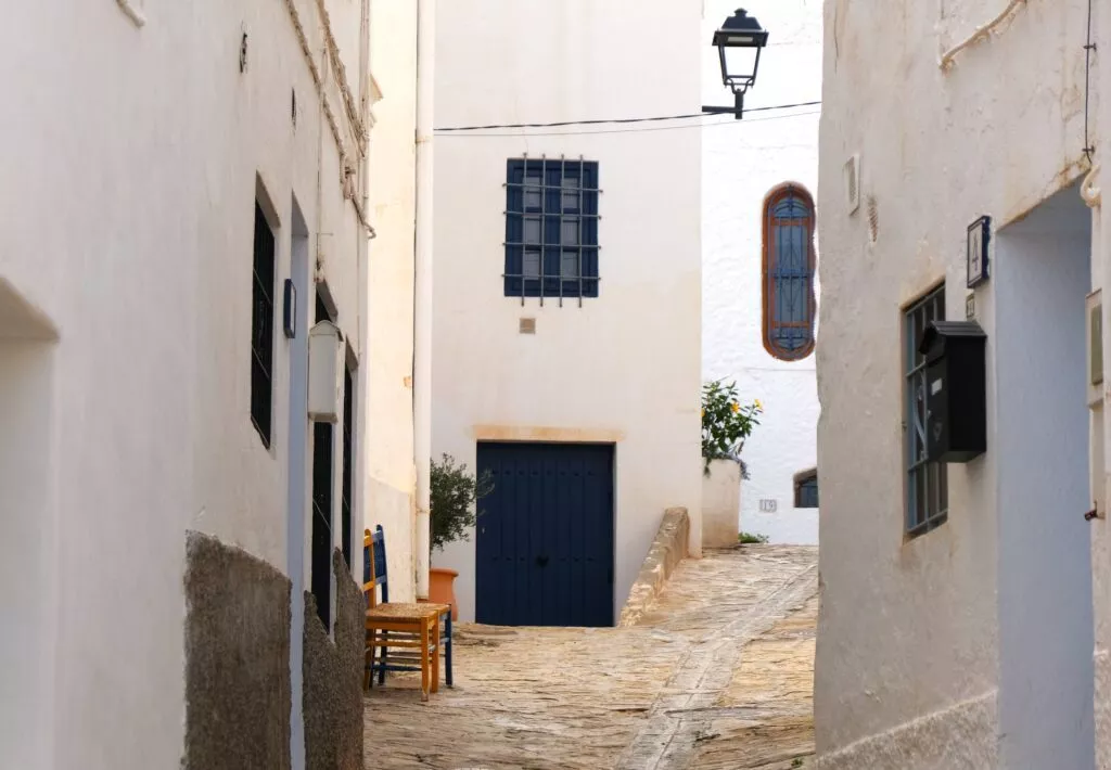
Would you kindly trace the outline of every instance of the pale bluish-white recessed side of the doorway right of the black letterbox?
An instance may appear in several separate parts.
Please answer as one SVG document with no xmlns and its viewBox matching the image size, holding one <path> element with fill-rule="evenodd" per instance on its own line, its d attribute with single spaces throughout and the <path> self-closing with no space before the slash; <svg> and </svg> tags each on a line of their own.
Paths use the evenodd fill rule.
<svg viewBox="0 0 1111 770">
<path fill-rule="evenodd" d="M 999 729 L 1007 768 L 1093 766 L 1081 396 L 1090 252 L 1091 213 L 1075 188 L 998 233 L 995 327 L 1005 330 L 995 343 Z"/>
</svg>

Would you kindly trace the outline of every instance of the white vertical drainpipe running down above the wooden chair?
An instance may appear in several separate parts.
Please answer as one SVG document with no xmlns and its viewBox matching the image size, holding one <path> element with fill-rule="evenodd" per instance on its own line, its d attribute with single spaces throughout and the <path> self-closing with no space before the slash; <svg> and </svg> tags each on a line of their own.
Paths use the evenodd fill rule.
<svg viewBox="0 0 1111 770">
<path fill-rule="evenodd" d="M 413 308 L 413 462 L 417 596 L 428 598 L 429 463 L 432 459 L 432 72 L 436 0 L 417 2 L 417 239 Z"/>
</svg>

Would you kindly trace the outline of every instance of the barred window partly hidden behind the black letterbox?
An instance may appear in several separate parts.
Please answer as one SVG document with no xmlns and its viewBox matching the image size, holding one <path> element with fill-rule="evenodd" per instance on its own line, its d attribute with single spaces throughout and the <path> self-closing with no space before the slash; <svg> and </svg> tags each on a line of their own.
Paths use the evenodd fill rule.
<svg viewBox="0 0 1111 770">
<path fill-rule="evenodd" d="M 918 339 L 927 324 L 945 318 L 945 287 L 938 287 L 903 313 L 903 361 L 905 368 L 903 444 L 907 460 L 907 533 L 915 537 L 943 523 L 949 511 L 947 466 L 930 459 L 927 443 L 930 414 L 927 411 L 925 357 Z"/>
</svg>

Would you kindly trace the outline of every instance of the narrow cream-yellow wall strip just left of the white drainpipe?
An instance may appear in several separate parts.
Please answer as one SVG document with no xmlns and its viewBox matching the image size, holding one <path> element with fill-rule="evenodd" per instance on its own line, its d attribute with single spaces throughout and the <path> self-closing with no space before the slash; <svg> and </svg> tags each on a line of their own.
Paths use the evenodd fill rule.
<svg viewBox="0 0 1111 770">
<path fill-rule="evenodd" d="M 370 64 L 382 99 L 370 138 L 371 242 L 366 527 L 382 524 L 390 600 L 413 601 L 413 246 L 417 3 L 371 3 Z"/>
</svg>

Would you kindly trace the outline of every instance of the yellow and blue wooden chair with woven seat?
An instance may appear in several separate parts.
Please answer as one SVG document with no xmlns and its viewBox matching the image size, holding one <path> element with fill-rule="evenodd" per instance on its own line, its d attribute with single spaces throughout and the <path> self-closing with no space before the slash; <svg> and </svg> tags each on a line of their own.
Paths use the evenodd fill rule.
<svg viewBox="0 0 1111 770">
<path fill-rule="evenodd" d="M 428 602 L 390 601 L 386 568 L 386 533 L 382 526 L 373 534 L 366 530 L 363 548 L 363 594 L 367 597 L 367 669 L 363 688 L 386 683 L 387 671 L 420 671 L 421 700 L 440 689 L 440 651 L 444 652 L 448 687 L 451 671 L 451 606 Z M 378 601 L 381 588 L 382 600 Z M 390 656 L 391 648 L 394 650 Z M 378 650 L 381 649 L 380 660 Z"/>
</svg>

